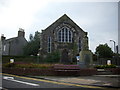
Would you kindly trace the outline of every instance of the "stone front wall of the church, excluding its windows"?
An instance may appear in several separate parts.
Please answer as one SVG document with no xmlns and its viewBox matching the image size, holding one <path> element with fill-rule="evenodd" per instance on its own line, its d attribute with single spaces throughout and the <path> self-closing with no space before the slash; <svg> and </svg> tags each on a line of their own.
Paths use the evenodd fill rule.
<svg viewBox="0 0 120 90">
<path fill-rule="evenodd" d="M 69 30 L 72 32 L 72 42 L 58 41 L 58 31 L 63 27 L 69 28 Z M 80 52 L 79 39 L 82 43 L 85 34 L 86 32 L 84 32 L 77 24 L 75 24 L 67 15 L 63 15 L 45 30 L 42 30 L 40 54 L 46 55 L 48 53 L 48 37 L 51 37 L 51 52 L 58 50 L 61 53 L 61 59 L 66 57 L 64 60 L 67 59 L 68 62 L 72 62 L 72 58 L 74 58 Z M 82 48 L 82 45 L 80 48 Z"/>
</svg>

